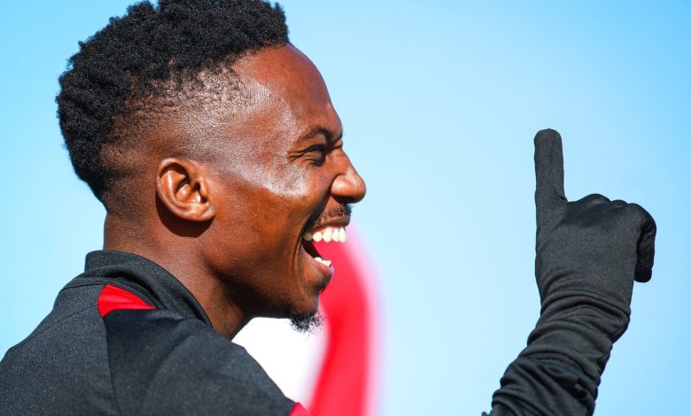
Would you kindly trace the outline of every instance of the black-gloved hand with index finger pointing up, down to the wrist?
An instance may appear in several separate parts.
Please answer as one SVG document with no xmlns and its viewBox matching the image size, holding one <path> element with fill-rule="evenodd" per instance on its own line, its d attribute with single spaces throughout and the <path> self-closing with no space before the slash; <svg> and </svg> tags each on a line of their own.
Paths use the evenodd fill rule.
<svg viewBox="0 0 691 416">
<path fill-rule="evenodd" d="M 599 382 L 629 323 L 633 281 L 650 280 L 655 220 L 641 206 L 590 195 L 567 202 L 562 138 L 535 136 L 540 320 L 521 357 L 569 358 Z"/>
</svg>

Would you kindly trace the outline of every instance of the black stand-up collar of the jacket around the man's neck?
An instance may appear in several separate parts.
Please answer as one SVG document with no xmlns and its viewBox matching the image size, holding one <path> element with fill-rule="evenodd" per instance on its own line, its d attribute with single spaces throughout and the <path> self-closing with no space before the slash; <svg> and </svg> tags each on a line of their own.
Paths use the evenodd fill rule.
<svg viewBox="0 0 691 416">
<path fill-rule="evenodd" d="M 185 318 L 196 318 L 211 325 L 206 312 L 190 290 L 173 274 L 148 258 L 124 251 L 91 251 L 86 257 L 84 273 L 66 288 L 101 282 L 124 286 L 123 289 L 133 290 L 159 309 L 177 312 Z"/>
</svg>

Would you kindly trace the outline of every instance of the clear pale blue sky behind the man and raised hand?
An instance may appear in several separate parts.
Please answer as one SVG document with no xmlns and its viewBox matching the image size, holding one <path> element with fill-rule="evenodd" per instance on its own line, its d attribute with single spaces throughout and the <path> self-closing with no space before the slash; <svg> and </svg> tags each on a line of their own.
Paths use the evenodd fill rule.
<svg viewBox="0 0 691 416">
<path fill-rule="evenodd" d="M 0 17 L 0 355 L 101 245 L 74 177 L 57 77 L 129 2 L 4 4 Z M 539 313 L 532 136 L 564 139 L 566 194 L 645 206 L 653 280 L 597 413 L 679 414 L 691 388 L 691 3 L 283 2 L 368 181 L 354 218 L 385 312 L 382 413 L 479 414 Z"/>
</svg>

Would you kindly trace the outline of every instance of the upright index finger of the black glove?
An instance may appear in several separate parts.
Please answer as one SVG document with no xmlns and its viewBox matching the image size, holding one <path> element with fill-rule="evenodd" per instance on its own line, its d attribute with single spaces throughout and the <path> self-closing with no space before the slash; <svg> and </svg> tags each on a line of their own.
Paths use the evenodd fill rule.
<svg viewBox="0 0 691 416">
<path fill-rule="evenodd" d="M 535 206 L 538 224 L 550 217 L 549 213 L 566 202 L 563 192 L 562 136 L 547 128 L 535 135 Z"/>
</svg>

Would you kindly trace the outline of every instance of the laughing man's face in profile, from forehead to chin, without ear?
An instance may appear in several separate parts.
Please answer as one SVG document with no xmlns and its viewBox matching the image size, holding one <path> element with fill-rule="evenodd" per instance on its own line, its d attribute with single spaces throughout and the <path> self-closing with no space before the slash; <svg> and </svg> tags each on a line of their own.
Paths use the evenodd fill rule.
<svg viewBox="0 0 691 416">
<path fill-rule="evenodd" d="M 233 71 L 247 99 L 210 116 L 221 145 L 209 166 L 216 216 L 203 242 L 207 264 L 245 314 L 306 318 L 333 274 L 310 235 L 339 243 L 346 204 L 362 199 L 365 183 L 305 55 L 291 45 L 260 50 Z"/>
</svg>

